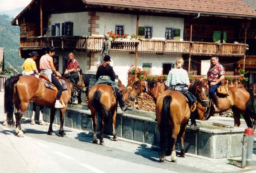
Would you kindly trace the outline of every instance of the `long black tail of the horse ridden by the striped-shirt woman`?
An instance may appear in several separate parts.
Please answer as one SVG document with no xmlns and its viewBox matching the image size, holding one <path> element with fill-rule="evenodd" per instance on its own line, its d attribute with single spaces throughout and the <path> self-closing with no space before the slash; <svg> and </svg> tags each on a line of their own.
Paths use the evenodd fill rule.
<svg viewBox="0 0 256 173">
<path fill-rule="evenodd" d="M 163 107 L 161 112 L 161 123 L 160 123 L 160 144 L 159 144 L 159 155 L 160 158 L 165 157 L 165 150 L 167 148 L 168 143 L 168 128 L 170 118 L 170 104 L 172 103 L 171 96 L 165 96 L 163 98 Z"/>
</svg>

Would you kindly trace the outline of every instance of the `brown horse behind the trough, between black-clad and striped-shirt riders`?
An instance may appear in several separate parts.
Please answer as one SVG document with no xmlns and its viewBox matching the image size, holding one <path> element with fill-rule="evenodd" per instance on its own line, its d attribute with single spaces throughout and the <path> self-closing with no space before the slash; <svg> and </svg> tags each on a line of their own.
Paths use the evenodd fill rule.
<svg viewBox="0 0 256 173">
<path fill-rule="evenodd" d="M 133 83 L 132 90 L 130 92 L 131 100 L 134 101 L 136 96 L 139 96 L 142 92 L 146 92 L 148 95 L 153 97 L 153 100 L 156 102 L 159 94 L 166 89 L 168 88 L 164 82 L 136 81 Z"/>
</svg>

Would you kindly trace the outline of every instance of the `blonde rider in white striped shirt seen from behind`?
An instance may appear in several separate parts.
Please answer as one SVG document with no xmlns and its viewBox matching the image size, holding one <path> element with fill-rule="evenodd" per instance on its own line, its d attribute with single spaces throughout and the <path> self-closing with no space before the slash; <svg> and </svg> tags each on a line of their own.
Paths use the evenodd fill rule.
<svg viewBox="0 0 256 173">
<path fill-rule="evenodd" d="M 170 70 L 166 85 L 169 89 L 176 90 L 184 94 L 188 98 L 189 103 L 193 106 L 197 101 L 196 97 L 191 92 L 188 92 L 189 78 L 188 72 L 182 69 L 184 64 L 183 58 L 177 58 L 175 64 L 177 68 Z M 195 106 L 191 108 L 191 111 L 194 110 Z"/>
</svg>

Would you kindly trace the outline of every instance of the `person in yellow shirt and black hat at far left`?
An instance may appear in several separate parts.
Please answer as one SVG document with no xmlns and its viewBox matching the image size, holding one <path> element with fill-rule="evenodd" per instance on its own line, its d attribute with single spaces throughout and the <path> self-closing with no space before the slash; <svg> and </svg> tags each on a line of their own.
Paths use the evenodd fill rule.
<svg viewBox="0 0 256 173">
<path fill-rule="evenodd" d="M 36 51 L 29 53 L 30 58 L 27 58 L 22 65 L 22 75 L 34 75 L 39 74 L 37 66 L 35 65 L 35 59 L 39 56 Z"/>
</svg>

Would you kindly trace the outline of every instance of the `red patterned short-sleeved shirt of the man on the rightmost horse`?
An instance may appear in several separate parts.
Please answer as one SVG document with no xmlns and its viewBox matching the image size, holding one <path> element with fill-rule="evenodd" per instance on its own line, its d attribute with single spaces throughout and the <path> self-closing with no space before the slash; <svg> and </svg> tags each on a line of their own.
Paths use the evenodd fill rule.
<svg viewBox="0 0 256 173">
<path fill-rule="evenodd" d="M 215 82 L 221 77 L 222 75 L 225 75 L 224 68 L 221 64 L 216 64 L 214 67 L 209 68 L 207 72 L 207 78 L 209 82 Z"/>
</svg>

